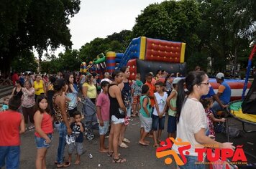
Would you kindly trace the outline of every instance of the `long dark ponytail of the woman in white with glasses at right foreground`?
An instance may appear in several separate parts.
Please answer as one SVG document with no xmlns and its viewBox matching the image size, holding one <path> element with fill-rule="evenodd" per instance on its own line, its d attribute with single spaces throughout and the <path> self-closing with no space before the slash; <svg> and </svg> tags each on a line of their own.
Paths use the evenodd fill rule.
<svg viewBox="0 0 256 169">
<path fill-rule="evenodd" d="M 177 95 L 177 102 L 176 102 L 176 107 L 177 107 L 177 122 L 179 122 L 180 119 L 180 113 L 181 113 L 181 108 L 183 107 L 184 100 L 185 100 L 185 92 L 184 92 L 184 79 L 180 79 L 180 81 L 176 84 L 178 85 L 178 95 Z"/>
</svg>

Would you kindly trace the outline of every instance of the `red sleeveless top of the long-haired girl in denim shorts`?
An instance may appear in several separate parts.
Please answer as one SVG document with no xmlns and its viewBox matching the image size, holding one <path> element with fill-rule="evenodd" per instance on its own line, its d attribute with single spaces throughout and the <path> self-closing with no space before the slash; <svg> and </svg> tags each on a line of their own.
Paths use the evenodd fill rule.
<svg viewBox="0 0 256 169">
<path fill-rule="evenodd" d="M 42 131 L 45 132 L 45 134 L 52 134 L 53 132 L 52 117 L 47 112 L 44 112 L 42 114 L 41 128 L 42 128 Z M 41 137 L 38 134 L 38 132 L 35 132 L 35 136 Z"/>
</svg>

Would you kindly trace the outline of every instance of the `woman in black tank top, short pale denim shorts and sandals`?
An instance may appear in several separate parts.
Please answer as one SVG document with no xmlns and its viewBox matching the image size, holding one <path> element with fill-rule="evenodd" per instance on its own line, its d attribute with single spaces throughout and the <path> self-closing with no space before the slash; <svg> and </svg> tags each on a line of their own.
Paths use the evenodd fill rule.
<svg viewBox="0 0 256 169">
<path fill-rule="evenodd" d="M 113 163 L 124 163 L 127 160 L 119 157 L 118 142 L 122 126 L 124 125 L 124 118 L 127 114 L 127 109 L 124 105 L 124 95 L 118 84 L 123 82 L 123 73 L 119 70 L 113 72 L 112 77 L 114 81 L 109 84 L 109 100 L 110 100 L 110 119 L 111 130 L 109 133 L 109 156 L 113 156 Z"/>
</svg>

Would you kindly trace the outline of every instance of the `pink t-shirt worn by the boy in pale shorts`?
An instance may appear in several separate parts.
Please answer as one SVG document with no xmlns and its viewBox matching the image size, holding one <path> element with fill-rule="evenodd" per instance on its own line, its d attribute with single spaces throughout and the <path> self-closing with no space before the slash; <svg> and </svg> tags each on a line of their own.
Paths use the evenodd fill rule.
<svg viewBox="0 0 256 169">
<path fill-rule="evenodd" d="M 109 121 L 109 107 L 110 107 L 109 95 L 105 94 L 104 92 L 101 92 L 101 94 L 99 94 L 97 98 L 96 106 L 101 107 L 102 120 Z"/>
</svg>

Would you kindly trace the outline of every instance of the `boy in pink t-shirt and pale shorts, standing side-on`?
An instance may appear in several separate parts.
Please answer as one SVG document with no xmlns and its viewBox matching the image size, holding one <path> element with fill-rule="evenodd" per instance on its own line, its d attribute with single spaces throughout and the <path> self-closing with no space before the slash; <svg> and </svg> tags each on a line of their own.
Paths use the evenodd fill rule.
<svg viewBox="0 0 256 169">
<path fill-rule="evenodd" d="M 97 118 L 99 120 L 99 152 L 108 153 L 108 150 L 104 147 L 105 135 L 109 130 L 109 95 L 108 95 L 109 82 L 101 82 L 101 89 L 103 90 L 97 99 Z"/>
</svg>

